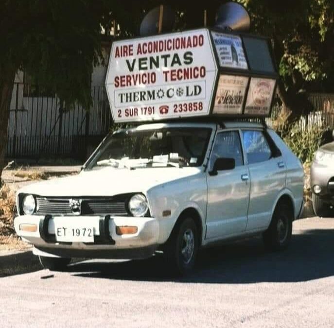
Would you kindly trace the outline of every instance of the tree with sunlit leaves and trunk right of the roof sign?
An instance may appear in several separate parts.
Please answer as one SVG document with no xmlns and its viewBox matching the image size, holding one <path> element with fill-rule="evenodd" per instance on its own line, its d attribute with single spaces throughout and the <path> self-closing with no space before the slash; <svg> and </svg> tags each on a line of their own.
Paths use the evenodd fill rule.
<svg viewBox="0 0 334 328">
<path fill-rule="evenodd" d="M 310 109 L 305 90 L 333 91 L 333 0 L 239 0 L 248 9 L 252 31 L 272 39 L 281 80 L 280 122 Z"/>
</svg>

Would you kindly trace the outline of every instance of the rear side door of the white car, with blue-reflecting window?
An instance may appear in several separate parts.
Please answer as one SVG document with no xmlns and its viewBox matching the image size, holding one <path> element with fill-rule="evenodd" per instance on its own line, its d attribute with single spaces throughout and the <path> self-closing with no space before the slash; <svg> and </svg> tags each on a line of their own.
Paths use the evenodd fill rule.
<svg viewBox="0 0 334 328">
<path fill-rule="evenodd" d="M 264 130 L 242 130 L 250 175 L 247 231 L 266 228 L 280 191 L 285 188 L 286 169 L 280 150 Z"/>
</svg>

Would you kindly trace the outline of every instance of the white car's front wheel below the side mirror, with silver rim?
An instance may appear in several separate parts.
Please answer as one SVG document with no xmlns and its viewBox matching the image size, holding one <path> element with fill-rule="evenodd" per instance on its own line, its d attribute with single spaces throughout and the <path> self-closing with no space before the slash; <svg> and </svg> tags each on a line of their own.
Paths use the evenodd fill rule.
<svg viewBox="0 0 334 328">
<path fill-rule="evenodd" d="M 192 218 L 187 217 L 175 226 L 165 244 L 167 269 L 173 275 L 192 271 L 198 253 L 198 231 Z"/>
</svg>

